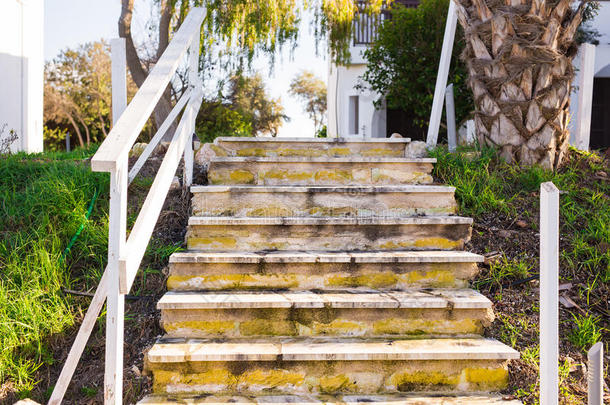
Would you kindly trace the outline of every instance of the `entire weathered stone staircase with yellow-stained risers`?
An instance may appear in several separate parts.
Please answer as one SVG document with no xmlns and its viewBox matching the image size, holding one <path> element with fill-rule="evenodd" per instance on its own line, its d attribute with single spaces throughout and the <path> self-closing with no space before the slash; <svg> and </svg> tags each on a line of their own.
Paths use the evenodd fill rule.
<svg viewBox="0 0 610 405">
<path fill-rule="evenodd" d="M 407 139 L 219 138 L 140 404 L 518 404 L 482 257 Z"/>
</svg>

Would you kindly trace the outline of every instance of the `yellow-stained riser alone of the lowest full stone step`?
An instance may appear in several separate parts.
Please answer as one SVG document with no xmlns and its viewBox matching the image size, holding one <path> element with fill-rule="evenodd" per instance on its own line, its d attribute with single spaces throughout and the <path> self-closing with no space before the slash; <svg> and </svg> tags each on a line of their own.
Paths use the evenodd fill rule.
<svg viewBox="0 0 610 405">
<path fill-rule="evenodd" d="M 392 394 L 499 391 L 502 360 L 233 361 L 148 365 L 153 391 L 172 394 Z"/>
</svg>

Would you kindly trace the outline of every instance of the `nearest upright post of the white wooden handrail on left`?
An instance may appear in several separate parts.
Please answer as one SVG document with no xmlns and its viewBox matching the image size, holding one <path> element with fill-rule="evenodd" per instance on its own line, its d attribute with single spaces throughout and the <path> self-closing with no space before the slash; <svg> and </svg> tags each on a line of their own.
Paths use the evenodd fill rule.
<svg viewBox="0 0 610 405">
<path fill-rule="evenodd" d="M 127 236 L 127 158 L 110 173 L 108 225 L 108 297 L 106 304 L 106 361 L 104 404 L 123 403 L 123 327 L 125 295 L 119 290 L 119 259 Z"/>
</svg>

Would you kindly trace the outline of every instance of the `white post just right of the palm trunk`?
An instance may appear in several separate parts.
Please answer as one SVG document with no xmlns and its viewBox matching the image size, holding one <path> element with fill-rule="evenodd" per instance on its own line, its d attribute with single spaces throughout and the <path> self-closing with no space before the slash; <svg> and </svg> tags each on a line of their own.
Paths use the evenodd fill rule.
<svg viewBox="0 0 610 405">
<path fill-rule="evenodd" d="M 589 150 L 591 137 L 591 110 L 593 108 L 593 76 L 595 75 L 595 45 L 580 46 L 580 80 L 578 83 L 578 123 L 576 144 L 578 149 Z"/>
</svg>

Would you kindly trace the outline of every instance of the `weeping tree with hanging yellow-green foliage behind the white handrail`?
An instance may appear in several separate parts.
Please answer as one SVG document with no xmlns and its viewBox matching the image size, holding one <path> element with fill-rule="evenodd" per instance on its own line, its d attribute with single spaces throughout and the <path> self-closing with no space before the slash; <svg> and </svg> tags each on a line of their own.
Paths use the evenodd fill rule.
<svg viewBox="0 0 610 405">
<path fill-rule="evenodd" d="M 379 13 L 392 0 L 369 0 L 358 7 L 356 0 L 152 0 L 157 7 L 159 21 L 151 25 L 156 38 L 144 52 L 136 46 L 132 34 L 132 18 L 135 0 L 121 0 L 119 35 L 126 39 L 127 65 L 139 87 L 150 67 L 163 54 L 175 32 L 192 7 L 203 6 L 207 18 L 201 32 L 201 66 L 212 68 L 243 68 L 255 55 L 266 54 L 273 62 L 274 56 L 284 45 L 295 45 L 301 13 L 315 13 L 314 33 L 318 41 L 328 39 L 334 60 L 344 62 L 349 58 L 349 44 L 356 13 Z M 173 83 L 175 85 L 175 82 Z M 172 94 L 179 88 L 168 89 L 154 111 L 157 126 L 165 120 L 172 106 Z"/>
</svg>

